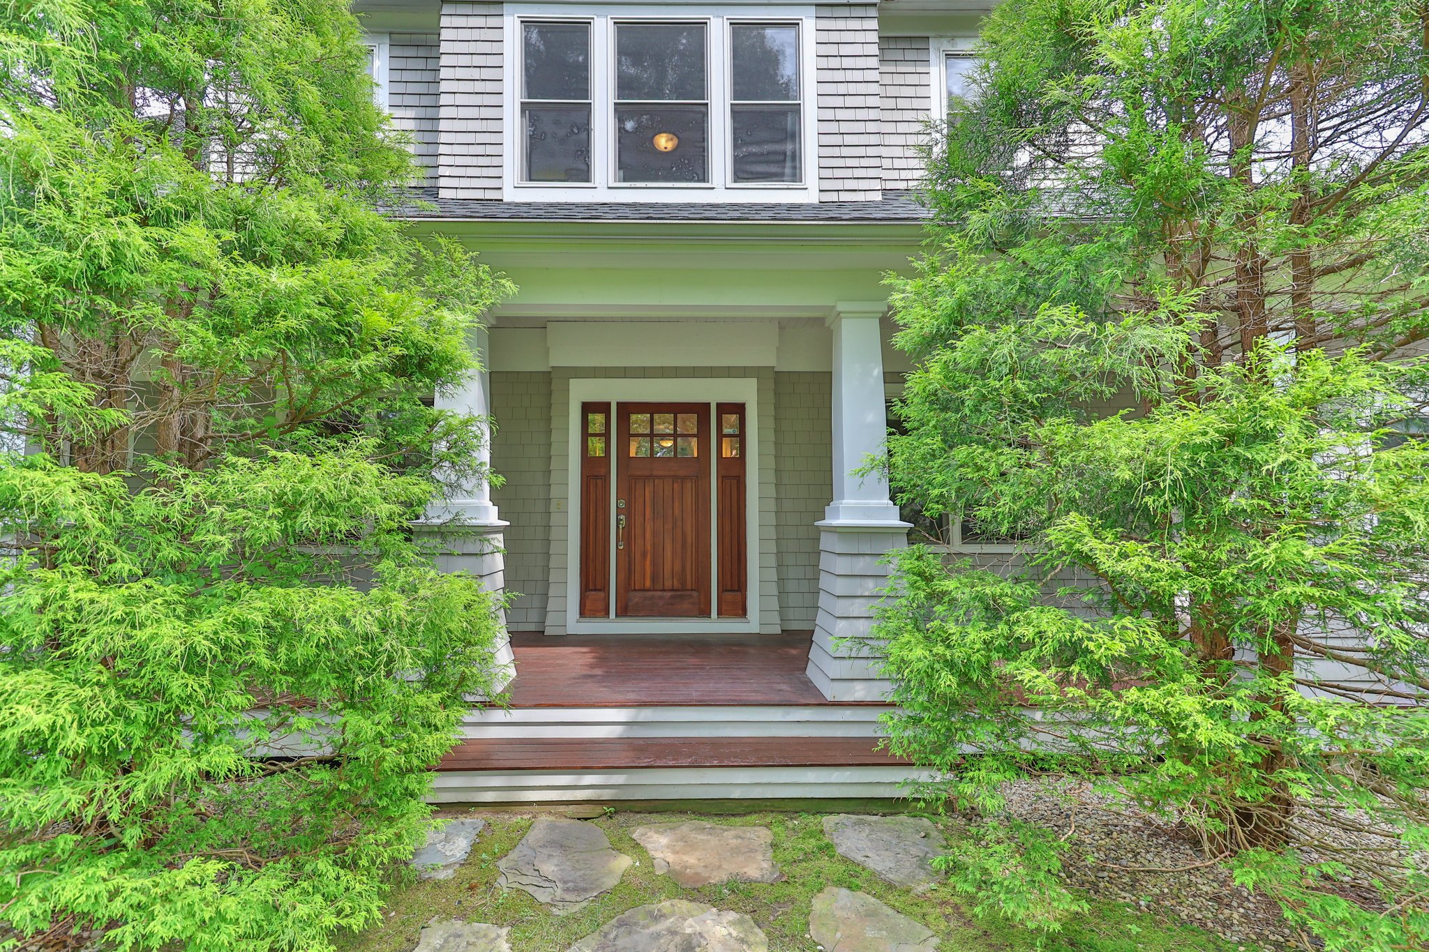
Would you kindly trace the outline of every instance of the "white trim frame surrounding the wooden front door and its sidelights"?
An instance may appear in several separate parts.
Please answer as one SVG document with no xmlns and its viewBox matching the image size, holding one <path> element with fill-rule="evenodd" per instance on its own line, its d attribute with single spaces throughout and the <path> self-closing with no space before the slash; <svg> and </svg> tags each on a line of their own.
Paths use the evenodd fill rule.
<svg viewBox="0 0 1429 952">
<path fill-rule="evenodd" d="M 616 402 L 742 402 L 745 404 L 745 618 L 716 618 L 717 598 L 713 597 L 717 558 L 710 559 L 710 611 L 709 618 L 580 618 L 580 460 L 586 430 L 580 425 L 580 404 L 593 401 Z M 612 407 L 614 412 L 614 407 Z M 710 425 L 714 425 L 713 407 Z M 569 505 L 566 531 L 566 634 L 757 634 L 759 632 L 759 378 L 757 377 L 699 377 L 694 380 L 642 380 L 629 377 L 573 378 L 566 427 L 566 480 Z M 614 512 L 614 492 L 619 455 L 612 454 L 610 494 Z M 709 457 L 710 467 L 714 455 Z M 710 492 L 713 517 L 714 492 Z M 614 534 L 610 540 L 614 545 Z M 714 544 L 714 532 L 710 532 Z M 713 555 L 713 552 L 712 552 Z M 610 551 L 612 595 L 614 594 L 614 550 Z"/>
</svg>

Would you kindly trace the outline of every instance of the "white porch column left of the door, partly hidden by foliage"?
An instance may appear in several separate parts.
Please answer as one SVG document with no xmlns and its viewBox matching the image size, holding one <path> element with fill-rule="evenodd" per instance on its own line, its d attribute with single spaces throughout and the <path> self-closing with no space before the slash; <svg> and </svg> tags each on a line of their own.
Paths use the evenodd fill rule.
<svg viewBox="0 0 1429 952">
<path fill-rule="evenodd" d="M 492 415 L 492 375 L 487 370 L 490 353 L 486 328 L 472 334 L 472 347 L 480 360 L 480 367 L 472 371 L 460 387 L 446 394 L 437 394 L 437 410 L 482 417 L 482 445 L 476 451 L 477 462 L 492 462 L 492 428 L 486 420 Z M 484 471 L 484 470 L 483 470 Z M 454 487 L 444 498 L 434 500 L 427 507 L 424 527 L 434 535 L 436 564 L 444 572 L 467 572 L 474 575 L 482 587 L 497 595 L 506 588 L 506 537 L 503 530 L 510 525 L 500 518 L 492 502 L 492 487 L 482 478 L 473 478 Z M 516 658 L 512 654 L 510 638 L 506 634 L 506 611 L 496 608 L 502 632 L 496 645 L 496 664 L 504 668 L 499 687 L 510 684 L 516 677 Z"/>
</svg>

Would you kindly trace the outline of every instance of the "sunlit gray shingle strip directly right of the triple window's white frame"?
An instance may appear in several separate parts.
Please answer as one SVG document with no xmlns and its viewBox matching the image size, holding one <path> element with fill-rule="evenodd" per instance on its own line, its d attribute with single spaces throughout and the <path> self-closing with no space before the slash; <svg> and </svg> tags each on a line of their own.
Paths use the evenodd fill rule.
<svg viewBox="0 0 1429 952">
<path fill-rule="evenodd" d="M 815 11 L 819 201 L 877 201 L 883 191 L 877 7 Z"/>
</svg>

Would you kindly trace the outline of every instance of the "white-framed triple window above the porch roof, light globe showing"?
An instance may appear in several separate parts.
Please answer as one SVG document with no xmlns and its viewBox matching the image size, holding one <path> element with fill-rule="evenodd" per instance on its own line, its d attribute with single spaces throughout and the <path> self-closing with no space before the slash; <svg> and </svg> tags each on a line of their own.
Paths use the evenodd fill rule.
<svg viewBox="0 0 1429 952">
<path fill-rule="evenodd" d="M 713 197 L 699 194 L 706 190 L 730 201 L 816 198 L 805 10 L 546 10 L 507 4 L 516 80 L 507 114 L 517 131 L 509 197 L 702 201 Z"/>
</svg>

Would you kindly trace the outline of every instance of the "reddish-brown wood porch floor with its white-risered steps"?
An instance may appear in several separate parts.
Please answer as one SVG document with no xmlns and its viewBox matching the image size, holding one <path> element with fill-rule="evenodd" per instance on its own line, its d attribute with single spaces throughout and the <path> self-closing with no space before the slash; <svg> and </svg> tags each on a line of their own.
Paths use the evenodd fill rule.
<svg viewBox="0 0 1429 952">
<path fill-rule="evenodd" d="M 480 708 L 436 766 L 436 799 L 892 796 L 887 705 L 832 702 L 809 632 L 513 634 L 510 709 Z"/>
</svg>

